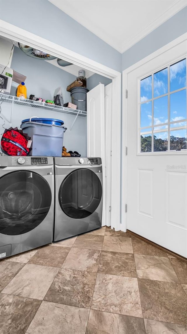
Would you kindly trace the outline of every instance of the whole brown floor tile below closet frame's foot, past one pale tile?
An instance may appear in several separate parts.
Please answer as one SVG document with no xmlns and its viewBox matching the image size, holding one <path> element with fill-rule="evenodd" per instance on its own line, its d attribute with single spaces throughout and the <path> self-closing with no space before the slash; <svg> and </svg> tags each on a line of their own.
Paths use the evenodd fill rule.
<svg viewBox="0 0 187 334">
<path fill-rule="evenodd" d="M 136 277 L 133 254 L 102 251 L 98 273 Z"/>
</svg>

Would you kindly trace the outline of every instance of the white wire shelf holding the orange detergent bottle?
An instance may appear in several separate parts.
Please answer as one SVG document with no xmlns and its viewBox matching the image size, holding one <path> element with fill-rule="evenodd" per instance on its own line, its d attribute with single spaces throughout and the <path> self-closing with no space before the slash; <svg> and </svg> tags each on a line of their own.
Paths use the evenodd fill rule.
<svg viewBox="0 0 187 334">
<path fill-rule="evenodd" d="M 27 107 L 58 111 L 60 113 L 66 113 L 66 114 L 83 116 L 83 117 L 87 116 L 87 112 L 83 110 L 77 110 L 77 109 L 56 106 L 56 105 L 50 105 L 48 103 L 32 101 L 28 99 L 21 99 L 21 98 L 17 98 L 16 96 L 11 96 L 11 95 L 6 95 L 6 94 L 1 94 L 0 97 L 3 99 L 4 102 L 8 102 L 12 104 L 19 104 L 19 105 L 27 106 Z"/>
</svg>

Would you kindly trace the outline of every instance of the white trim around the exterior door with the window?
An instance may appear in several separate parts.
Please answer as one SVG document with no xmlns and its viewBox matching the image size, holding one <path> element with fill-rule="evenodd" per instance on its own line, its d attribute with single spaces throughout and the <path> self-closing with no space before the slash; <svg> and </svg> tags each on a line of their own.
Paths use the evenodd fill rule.
<svg viewBox="0 0 187 334">
<path fill-rule="evenodd" d="M 127 212 L 125 212 L 125 204 L 127 204 L 127 211 L 128 211 L 128 194 L 127 194 L 127 159 L 128 153 L 125 155 L 125 147 L 127 147 L 127 99 L 126 98 L 126 90 L 128 92 L 128 74 L 133 70 L 137 69 L 138 67 L 142 66 L 146 62 L 151 61 L 152 59 L 156 58 L 158 55 L 163 54 L 164 52 L 172 49 L 176 45 L 187 41 L 187 33 L 179 36 L 178 38 L 174 39 L 172 42 L 164 45 L 163 47 L 159 48 L 155 52 L 149 54 L 147 57 L 141 59 L 137 63 L 133 64 L 132 66 L 126 68 L 122 72 L 122 143 L 121 143 L 121 231 L 126 232 L 127 229 Z M 137 152 L 136 152 L 137 154 Z M 124 171 L 124 172 L 123 172 Z"/>
</svg>

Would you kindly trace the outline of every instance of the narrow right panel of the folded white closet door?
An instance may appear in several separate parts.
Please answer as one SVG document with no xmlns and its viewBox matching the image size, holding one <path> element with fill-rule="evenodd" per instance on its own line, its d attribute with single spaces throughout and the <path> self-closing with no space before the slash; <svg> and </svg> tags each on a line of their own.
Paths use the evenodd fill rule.
<svg viewBox="0 0 187 334">
<path fill-rule="evenodd" d="M 112 83 L 104 87 L 106 225 L 111 225 Z"/>
</svg>

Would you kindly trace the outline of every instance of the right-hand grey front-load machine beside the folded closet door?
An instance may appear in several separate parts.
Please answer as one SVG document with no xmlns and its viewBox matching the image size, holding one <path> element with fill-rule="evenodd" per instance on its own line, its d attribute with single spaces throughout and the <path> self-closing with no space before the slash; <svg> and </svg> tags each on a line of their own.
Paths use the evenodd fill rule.
<svg viewBox="0 0 187 334">
<path fill-rule="evenodd" d="M 54 241 L 101 227 L 101 158 L 55 157 Z"/>
</svg>

